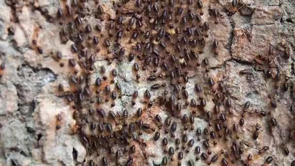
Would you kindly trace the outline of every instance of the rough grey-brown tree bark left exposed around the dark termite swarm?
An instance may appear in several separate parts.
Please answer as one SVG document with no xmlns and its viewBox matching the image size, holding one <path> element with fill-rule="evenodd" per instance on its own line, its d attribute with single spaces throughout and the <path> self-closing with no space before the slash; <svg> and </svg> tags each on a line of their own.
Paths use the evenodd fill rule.
<svg viewBox="0 0 295 166">
<path fill-rule="evenodd" d="M 221 165 L 222 158 L 228 160 L 229 166 L 242 166 L 242 161 L 252 166 L 266 165 L 265 161 L 269 156 L 273 157 L 270 164 L 272 166 L 290 166 L 295 160 L 294 0 L 238 0 L 239 11 L 233 16 L 228 15 L 231 9 L 228 0 L 202 0 L 204 5 L 202 21 L 209 21 L 210 30 L 204 38 L 205 47 L 202 51 L 197 48 L 198 62 L 191 64 L 192 66 L 186 70 L 188 83 L 182 85 L 186 87 L 189 102 L 195 99 L 198 104 L 199 97 L 202 97 L 207 103 L 204 108 L 197 109 L 184 106 L 185 103 L 181 100 L 183 107 L 179 117 L 184 114 L 189 117 L 194 110 L 197 113 L 193 115 L 195 122 L 190 126 L 193 130 L 189 128 L 187 131 L 180 127 L 181 118 L 171 117 L 172 122 L 178 124 L 175 138 L 180 138 L 180 149 L 175 148 L 172 160 L 165 150 L 170 146 L 176 147 L 175 138 L 170 138 L 170 133 L 165 133 L 165 128 L 159 127 L 154 117 L 161 116 L 162 124 L 164 124 L 166 117 L 171 116 L 166 107 L 156 103 L 158 103 L 158 97 L 163 96 L 165 89 L 172 92 L 173 87 L 167 79 L 147 81 L 152 71 L 149 68 L 152 68 L 152 65 L 146 70 L 140 69 L 140 81 L 136 80 L 136 73 L 132 70 L 135 60 L 128 61 L 128 55 L 136 44 L 136 42 L 129 44 L 131 33 L 124 34 L 127 37 L 124 36 L 120 41 L 120 46 L 126 47 L 126 59 L 122 62 L 114 60 L 110 64 L 110 56 L 114 52 L 109 53 L 102 45 L 104 38 L 108 36 L 106 28 L 109 26 L 108 20 L 115 20 L 118 17 L 113 1 L 78 1 L 81 7 L 80 15 L 83 16 L 83 29 L 87 24 L 91 24 L 94 34 L 89 36 L 97 35 L 99 38 L 100 50 L 98 51 L 96 47 L 88 50 L 88 54 L 96 55 L 90 84 L 94 85 L 97 77 L 101 79 L 103 76 L 109 77 L 112 70 L 116 69 L 117 76 L 113 78 L 114 83 L 111 79 L 102 81 L 101 87 L 110 84 L 111 91 L 115 91 L 115 83 L 121 86 L 117 99 L 114 101 L 110 99 L 109 102 L 101 104 L 99 108 L 103 108 L 106 115 L 109 111 L 113 111 L 115 115 L 120 116 L 123 110 L 127 109 L 131 116 L 135 115 L 136 110 L 141 107 L 144 110 L 141 119 L 144 123 L 148 123 L 150 128 L 156 128 L 156 132 L 160 132 L 161 137 L 158 141 L 154 141 L 155 132 L 153 131 L 143 132 L 142 135 L 134 133 L 132 135 L 134 139 L 130 140 L 127 150 L 134 145 L 135 152 L 125 152 L 118 161 L 115 159 L 115 152 L 120 145 L 114 145 L 111 149 L 99 148 L 96 151 L 87 149 L 79 133 L 78 126 L 81 124 L 79 120 L 73 118 L 75 112 L 73 103 L 68 102 L 58 90 L 60 83 L 63 84 L 65 93 L 73 90 L 69 83 L 69 77 L 73 74 L 73 69 L 68 66 L 69 59 L 76 61 L 77 75 L 79 76 L 82 72 L 82 67 L 78 65 L 77 55 L 79 53 L 71 51 L 71 46 L 77 43 L 77 39 L 71 39 L 71 37 L 77 33 L 68 33 L 67 40 L 64 42 L 60 35 L 61 30 L 68 27 L 68 22 L 77 16 L 74 13 L 71 17 L 65 17 L 66 5 L 70 5 L 73 1 L 0 0 L 0 64 L 5 63 L 5 69 L 0 70 L 0 166 L 82 166 L 88 165 L 90 160 L 100 166 L 104 156 L 110 166 L 115 163 L 125 165 L 128 156 L 133 156 L 133 166 L 160 164 L 164 156 L 167 156 L 169 166 L 177 166 L 180 151 L 183 151 L 181 160 L 183 166 L 189 165 L 190 160 L 195 166 L 205 166 L 215 154 L 218 155 L 218 159 L 211 164 L 213 166 Z M 122 8 L 135 10 L 134 1 L 130 0 Z M 178 1 L 181 0 L 175 0 L 175 3 Z M 186 4 L 186 0 L 183 1 L 183 11 L 186 11 L 190 5 Z M 192 5 L 194 7 L 191 8 L 194 12 L 195 8 L 199 12 L 196 1 Z M 121 0 L 114 1 L 114 3 L 120 2 Z M 104 13 L 100 18 L 95 16 L 98 4 L 102 6 Z M 219 12 L 218 24 L 214 23 L 215 17 L 209 15 L 211 7 L 216 8 Z M 57 18 L 59 8 L 63 9 L 63 19 Z M 129 19 L 130 17 L 124 17 L 123 24 L 128 24 Z M 95 25 L 98 23 L 102 28 L 100 33 L 95 31 Z M 157 31 L 151 33 L 157 33 Z M 89 39 L 86 35 L 83 37 L 86 38 L 83 42 L 87 45 Z M 218 41 L 217 55 L 214 54 L 212 48 L 214 40 Z M 92 38 L 89 41 L 92 41 Z M 142 49 L 144 47 L 142 45 Z M 118 49 L 114 48 L 114 50 Z M 58 51 L 62 54 L 59 62 L 56 61 Z M 170 54 L 178 54 L 174 51 L 170 49 Z M 139 53 L 136 54 L 139 55 Z M 165 56 L 164 53 L 163 56 Z M 202 64 L 205 58 L 209 61 L 208 66 Z M 61 63 L 65 66 L 61 67 Z M 138 63 L 140 68 L 144 66 L 144 62 L 138 61 Z M 201 65 L 198 66 L 197 63 Z M 105 67 L 104 74 L 100 71 L 101 66 Z M 158 69 L 157 74 L 160 70 L 163 69 Z M 213 87 L 209 87 L 208 78 L 213 78 L 215 83 Z M 151 98 L 148 101 L 153 105 L 148 107 L 144 94 L 155 83 L 166 83 L 167 86 L 159 90 L 150 90 Z M 195 91 L 196 83 L 203 88 L 200 94 Z M 216 118 L 220 115 L 215 115 L 213 111 L 216 98 L 214 89 L 220 89 L 220 87 L 223 89 L 222 98 L 225 99 L 222 105 L 227 99 L 231 101 L 230 108 L 222 106 L 220 110 L 220 113 L 226 114 L 225 124 L 230 130 L 229 140 L 218 138 L 219 133 L 225 134 L 222 124 L 222 131 L 216 132 L 217 145 L 214 146 L 213 139 L 210 139 L 212 153 L 208 154 L 208 149 L 203 146 L 206 136 L 198 140 L 200 136 L 196 135 L 196 130 L 200 128 L 203 132 L 206 128 L 209 132 L 216 131 L 215 124 L 218 121 Z M 138 98 L 135 100 L 135 105 L 132 105 L 134 90 L 138 91 Z M 95 89 L 91 89 L 91 93 L 95 94 Z M 250 102 L 250 107 L 246 113 L 243 113 L 246 101 Z M 272 106 L 271 101 L 276 103 L 276 107 Z M 115 106 L 111 106 L 112 102 Z M 204 110 L 210 112 L 215 121 L 202 115 Z M 266 116 L 262 116 L 261 111 L 264 111 Z M 82 115 L 81 113 L 80 116 Z M 245 124 L 240 126 L 239 121 L 242 115 Z M 58 116 L 61 116 L 61 120 L 58 120 Z M 98 116 L 97 113 L 95 117 L 87 120 L 99 120 L 96 116 Z M 273 117 L 277 121 L 276 126 L 271 125 Z M 110 123 L 113 124 L 114 130 L 124 128 L 124 124 L 116 125 L 114 121 Z M 233 132 L 233 124 L 239 126 L 238 132 Z M 256 126 L 260 126 L 259 137 L 253 140 Z M 89 131 L 85 133 L 87 132 Z M 188 148 L 187 143 L 182 143 L 183 133 L 188 136 L 188 141 L 195 140 L 192 148 Z M 162 145 L 164 137 L 168 139 L 166 147 Z M 244 150 L 241 154 L 237 152 L 239 153 L 237 158 L 234 158 L 232 154 L 233 144 L 237 145 L 238 150 Z M 183 150 L 181 146 L 189 151 Z M 206 161 L 196 160 L 196 157 L 200 156 L 195 153 L 197 146 L 201 147 L 201 153 L 205 152 L 208 155 Z M 259 153 L 259 150 L 265 146 L 269 149 L 264 153 Z M 289 155 L 285 154 L 285 147 L 289 149 Z M 227 156 L 226 152 L 229 152 L 230 156 Z M 248 154 L 252 154 L 251 161 L 247 160 Z M 231 160 L 234 163 L 231 163 Z M 295 163 L 291 166 L 295 166 Z"/>
</svg>

